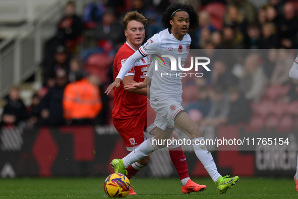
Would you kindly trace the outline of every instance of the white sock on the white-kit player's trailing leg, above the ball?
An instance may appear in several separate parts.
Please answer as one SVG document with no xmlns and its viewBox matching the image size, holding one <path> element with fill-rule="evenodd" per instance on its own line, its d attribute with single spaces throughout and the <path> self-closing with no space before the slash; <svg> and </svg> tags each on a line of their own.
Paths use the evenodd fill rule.
<svg viewBox="0 0 298 199">
<path fill-rule="evenodd" d="M 129 155 L 124 157 L 123 164 L 125 168 L 128 168 L 133 163 L 145 158 L 151 152 L 159 150 L 159 148 L 155 145 L 155 141 L 152 141 L 154 137 L 143 141 L 134 151 L 132 151 Z"/>
</svg>

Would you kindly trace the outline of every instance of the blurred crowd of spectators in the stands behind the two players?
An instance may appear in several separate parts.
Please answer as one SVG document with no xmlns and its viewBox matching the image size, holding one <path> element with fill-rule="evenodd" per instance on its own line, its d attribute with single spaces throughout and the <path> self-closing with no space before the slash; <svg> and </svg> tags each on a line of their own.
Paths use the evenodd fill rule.
<svg viewBox="0 0 298 199">
<path fill-rule="evenodd" d="M 113 58 L 126 41 L 122 20 L 129 11 L 142 13 L 148 19 L 145 42 L 163 30 L 160 17 L 171 2 L 94 1 L 82 16 L 68 2 L 56 34 L 44 43 L 43 87 L 29 107 L 19 88 L 11 87 L 2 125 L 111 125 L 113 94 L 104 90 L 113 80 Z M 293 124 L 295 113 L 276 107 L 286 104 L 294 110 L 298 100 L 298 82 L 288 77 L 298 48 L 298 2 L 183 2 L 192 4 L 200 19 L 200 27 L 190 33 L 191 49 L 211 60 L 211 71 L 202 72 L 203 77 L 183 78 L 183 106 L 197 124 Z"/>
</svg>

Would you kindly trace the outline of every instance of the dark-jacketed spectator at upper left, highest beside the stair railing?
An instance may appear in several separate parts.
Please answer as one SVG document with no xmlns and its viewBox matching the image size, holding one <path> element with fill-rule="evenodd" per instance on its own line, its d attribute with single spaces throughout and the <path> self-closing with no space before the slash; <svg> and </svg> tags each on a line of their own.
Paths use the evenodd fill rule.
<svg viewBox="0 0 298 199">
<path fill-rule="evenodd" d="M 57 38 L 59 43 L 65 45 L 70 39 L 76 39 L 82 35 L 83 22 L 80 17 L 76 15 L 76 5 L 69 1 L 65 6 L 66 15 L 60 20 L 57 30 Z"/>
</svg>

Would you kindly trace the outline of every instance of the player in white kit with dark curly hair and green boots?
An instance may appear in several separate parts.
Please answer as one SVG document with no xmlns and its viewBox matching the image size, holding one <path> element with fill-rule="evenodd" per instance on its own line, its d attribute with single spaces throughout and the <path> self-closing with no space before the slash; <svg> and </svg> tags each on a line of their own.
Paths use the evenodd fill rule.
<svg viewBox="0 0 298 199">
<path fill-rule="evenodd" d="M 191 37 L 188 30 L 198 28 L 199 18 L 193 6 L 181 3 L 172 3 L 162 14 L 161 22 L 165 30 L 153 35 L 133 54 L 123 65 L 115 81 L 110 84 L 105 93 L 109 93 L 114 87 L 120 86 L 120 82 L 134 64 L 149 55 L 153 57 L 153 63 L 157 62 L 157 69 L 152 66 L 147 74 L 152 75 L 150 87 L 150 102 L 157 113 L 154 124 L 157 126 L 156 135 L 144 141 L 138 148 L 123 159 L 114 159 L 112 166 L 120 173 L 138 160 L 146 157 L 153 151 L 165 147 L 162 140 L 168 139 L 177 128 L 185 132 L 191 139 L 194 151 L 198 159 L 215 182 L 221 194 L 232 187 L 239 177 L 222 177 L 216 168 L 210 152 L 207 151 L 203 131 L 187 115 L 182 103 L 182 77 L 184 62 L 189 54 Z M 155 60 L 157 60 L 155 62 Z M 178 63 L 176 63 L 178 61 Z M 175 69 L 176 68 L 176 69 Z M 173 71 L 173 69 L 175 69 Z M 168 75 L 166 75 L 168 74 Z M 146 81 L 142 87 L 146 87 Z M 136 85 L 140 85 L 136 84 Z"/>
</svg>

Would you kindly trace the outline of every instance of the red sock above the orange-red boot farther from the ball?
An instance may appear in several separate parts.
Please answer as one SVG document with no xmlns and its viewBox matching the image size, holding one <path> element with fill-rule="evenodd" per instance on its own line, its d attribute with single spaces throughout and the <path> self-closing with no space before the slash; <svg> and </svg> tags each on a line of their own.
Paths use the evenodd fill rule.
<svg viewBox="0 0 298 199">
<path fill-rule="evenodd" d="M 169 148 L 168 152 L 170 154 L 171 161 L 176 168 L 179 178 L 182 180 L 184 178 L 190 177 L 188 174 L 186 158 L 182 147 L 179 146 L 177 148 Z"/>
</svg>

